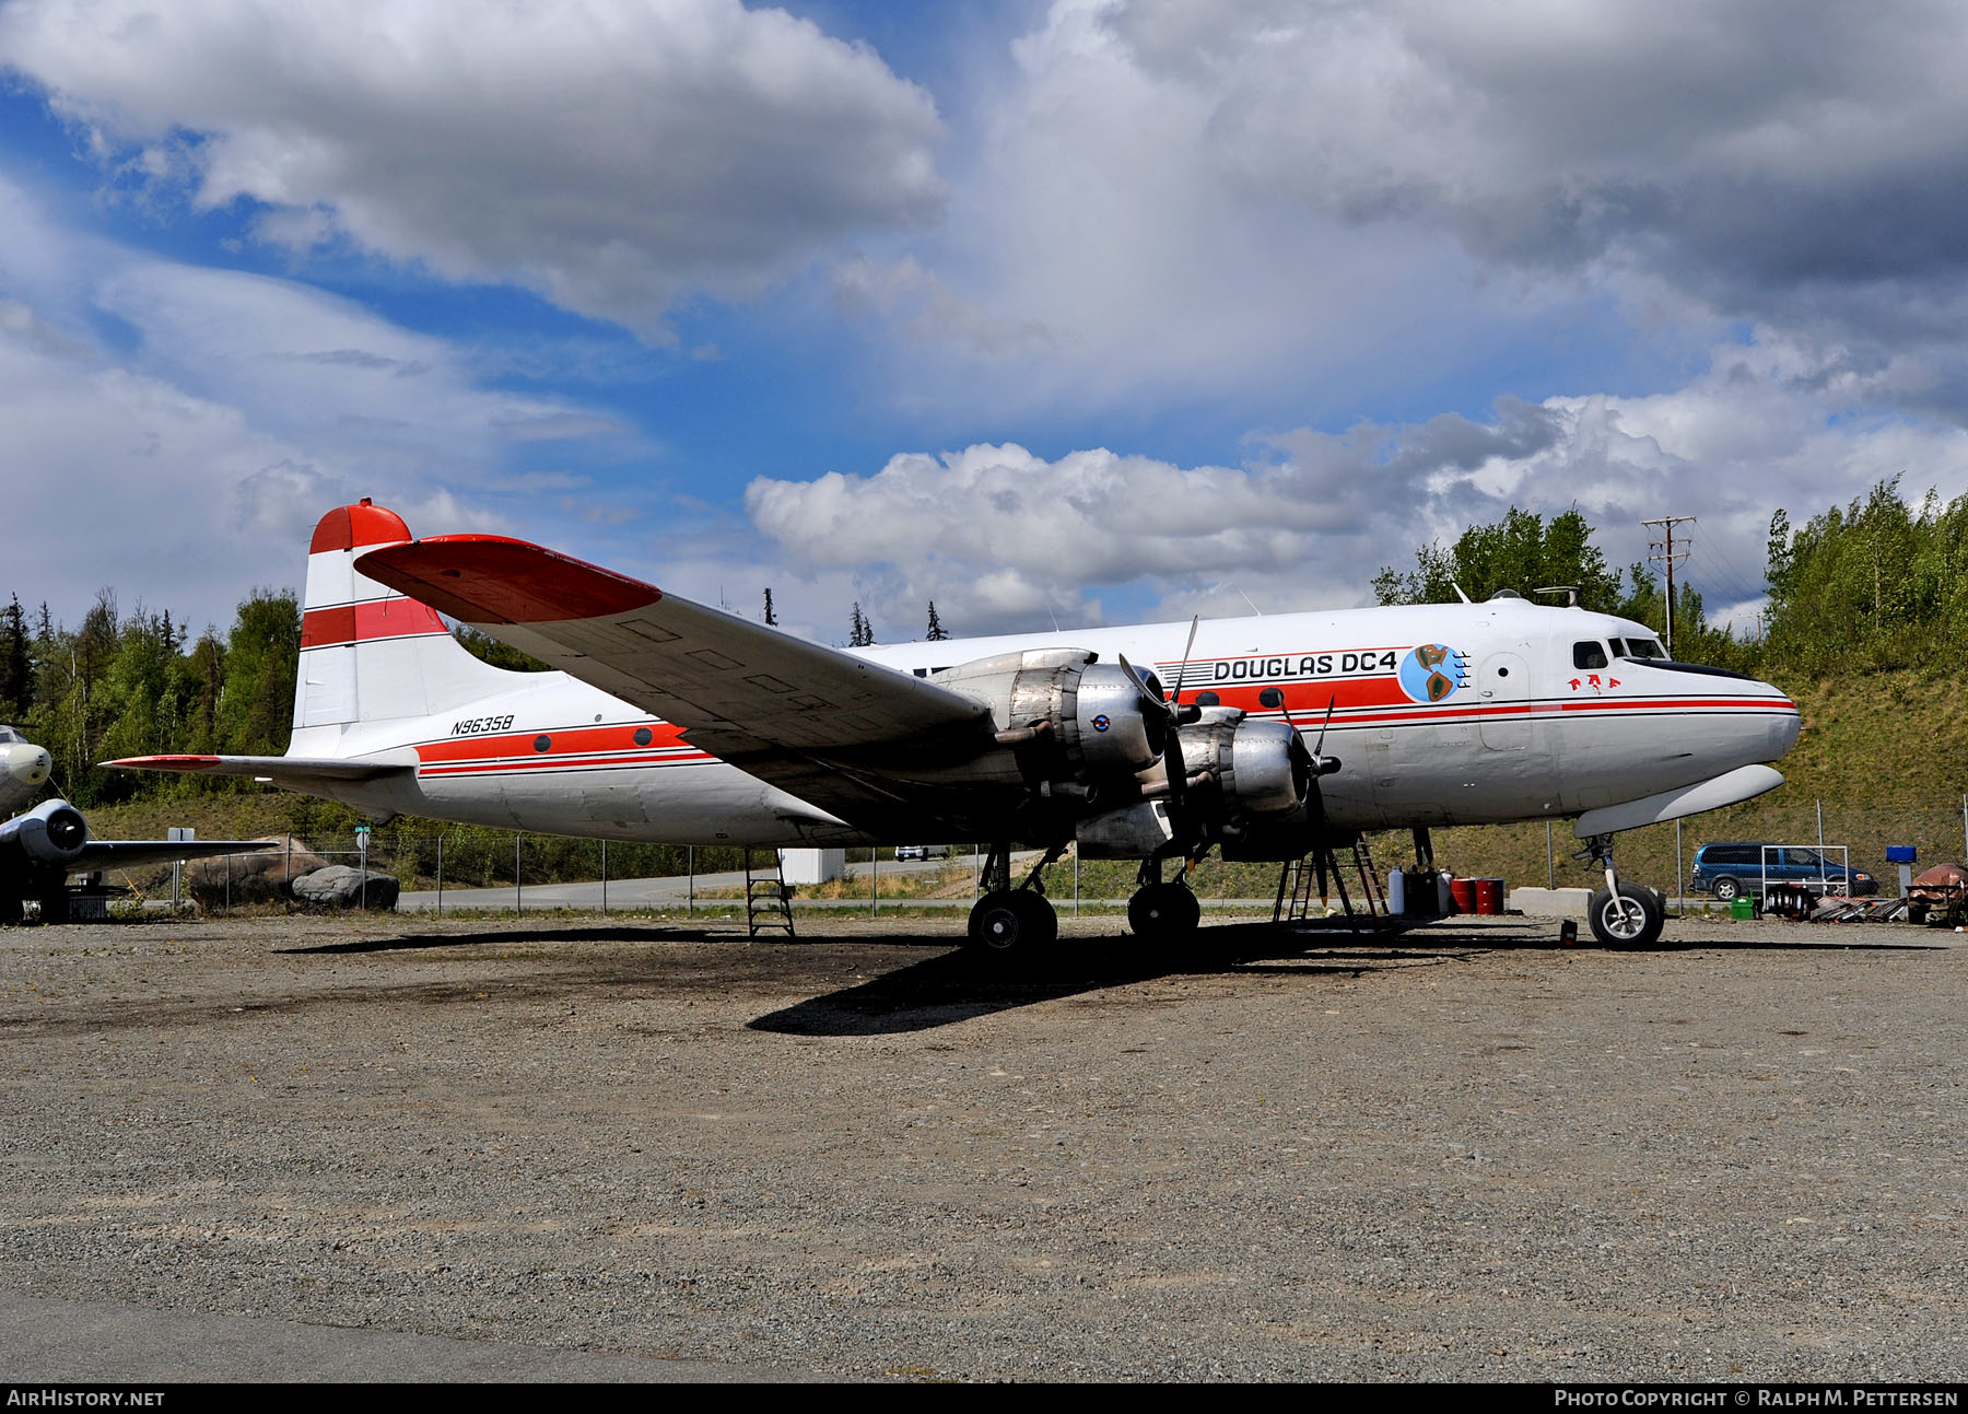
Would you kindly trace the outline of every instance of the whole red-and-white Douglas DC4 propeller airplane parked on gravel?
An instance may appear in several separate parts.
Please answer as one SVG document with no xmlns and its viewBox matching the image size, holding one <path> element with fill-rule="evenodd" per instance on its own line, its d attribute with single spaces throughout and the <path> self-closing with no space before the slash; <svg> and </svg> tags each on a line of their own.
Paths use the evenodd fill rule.
<svg viewBox="0 0 1968 1414">
<path fill-rule="evenodd" d="M 1187 937 L 1187 861 L 1364 829 L 1576 819 L 1592 928 L 1647 943 L 1620 831 L 1757 796 L 1797 740 L 1769 683 L 1519 597 L 842 652 L 502 536 L 411 540 L 368 500 L 307 561 L 285 756 L 138 756 L 372 817 L 695 845 L 990 843 L 974 945 L 1057 935 L 1041 870 L 1139 859 L 1136 933 Z M 468 654 L 439 614 L 557 672 Z M 1014 884 L 1012 845 L 1045 849 Z M 1163 882 L 1165 861 L 1179 863 Z"/>
</svg>

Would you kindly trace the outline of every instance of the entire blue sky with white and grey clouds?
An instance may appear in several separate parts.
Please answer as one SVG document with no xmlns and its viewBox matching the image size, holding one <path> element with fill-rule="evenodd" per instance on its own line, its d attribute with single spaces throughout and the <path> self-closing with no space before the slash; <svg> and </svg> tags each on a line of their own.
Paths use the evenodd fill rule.
<svg viewBox="0 0 1968 1414">
<path fill-rule="evenodd" d="M 901 18 L 897 18 L 901 16 Z M 1946 0 L 0 0 L 6 577 L 195 624 L 329 506 L 842 640 L 1968 490 Z"/>
</svg>

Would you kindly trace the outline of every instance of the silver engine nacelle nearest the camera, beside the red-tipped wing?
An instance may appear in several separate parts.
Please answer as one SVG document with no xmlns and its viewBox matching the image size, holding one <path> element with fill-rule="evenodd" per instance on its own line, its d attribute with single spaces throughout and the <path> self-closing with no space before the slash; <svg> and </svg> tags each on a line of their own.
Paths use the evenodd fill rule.
<svg viewBox="0 0 1968 1414">
<path fill-rule="evenodd" d="M 1017 746 L 1047 782 L 1132 778 L 1161 760 L 1167 746 L 1169 719 L 1141 701 L 1141 681 L 1082 648 L 978 658 L 937 674 L 937 683 L 986 703 L 1000 740 Z M 1153 674 L 1147 691 L 1161 697 Z"/>
</svg>

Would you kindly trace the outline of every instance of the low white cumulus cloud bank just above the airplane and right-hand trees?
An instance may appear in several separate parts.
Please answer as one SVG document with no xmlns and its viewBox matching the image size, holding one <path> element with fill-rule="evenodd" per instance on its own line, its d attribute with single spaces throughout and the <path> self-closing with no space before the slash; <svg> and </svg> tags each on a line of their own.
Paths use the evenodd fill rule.
<svg viewBox="0 0 1968 1414">
<path fill-rule="evenodd" d="M 1779 506 L 1801 522 L 1899 473 L 1913 496 L 1968 490 L 1968 433 L 1866 412 L 1864 382 L 1771 337 L 1718 347 L 1655 396 L 1297 429 L 1244 467 L 978 445 L 899 455 L 872 477 L 760 479 L 746 508 L 793 575 L 854 573 L 890 620 L 935 599 L 960 632 L 1041 628 L 1049 611 L 1098 622 L 1242 614 L 1246 597 L 1265 611 L 1372 603 L 1378 569 L 1409 569 L 1417 546 L 1509 506 L 1576 506 L 1616 567 L 1645 559 L 1643 518 L 1694 514 L 1679 532 L 1696 547 L 1691 583 L 1726 614 L 1763 591 Z"/>
</svg>

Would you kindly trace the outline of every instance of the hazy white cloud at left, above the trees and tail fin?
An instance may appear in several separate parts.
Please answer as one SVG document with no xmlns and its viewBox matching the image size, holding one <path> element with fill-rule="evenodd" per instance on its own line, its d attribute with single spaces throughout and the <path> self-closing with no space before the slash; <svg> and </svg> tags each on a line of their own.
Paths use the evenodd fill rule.
<svg viewBox="0 0 1968 1414">
<path fill-rule="evenodd" d="M 551 526 L 543 496 L 584 479 L 531 459 L 624 441 L 577 404 L 474 384 L 439 339 L 305 286 L 79 234 L 0 179 L 0 445 L 18 528 L 0 595 L 73 622 L 110 585 L 126 609 L 222 628 L 254 585 L 299 587 L 331 506 L 374 496 L 423 530 Z"/>
</svg>

